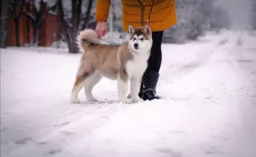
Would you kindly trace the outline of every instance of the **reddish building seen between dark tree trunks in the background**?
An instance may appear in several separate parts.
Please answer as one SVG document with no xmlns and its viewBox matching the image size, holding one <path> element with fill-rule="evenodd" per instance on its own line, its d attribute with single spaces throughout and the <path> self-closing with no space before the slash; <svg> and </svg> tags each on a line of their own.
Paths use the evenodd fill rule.
<svg viewBox="0 0 256 157">
<path fill-rule="evenodd" d="M 30 12 L 32 10 L 32 3 L 26 3 L 26 10 Z M 40 3 L 41 13 L 43 16 L 47 10 L 47 3 Z M 20 7 L 16 8 L 19 12 Z M 32 13 L 32 12 L 30 12 Z M 34 41 L 34 28 L 32 27 L 32 20 L 25 14 L 20 15 L 19 21 L 19 34 L 20 34 L 20 47 L 25 44 L 32 44 Z M 39 46 L 50 47 L 53 42 L 61 39 L 61 20 L 58 15 L 58 11 L 49 11 L 49 14 L 45 17 L 41 27 L 39 28 Z M 9 14 L 9 32 L 7 39 L 8 46 L 17 46 L 15 39 L 15 21 Z"/>
</svg>

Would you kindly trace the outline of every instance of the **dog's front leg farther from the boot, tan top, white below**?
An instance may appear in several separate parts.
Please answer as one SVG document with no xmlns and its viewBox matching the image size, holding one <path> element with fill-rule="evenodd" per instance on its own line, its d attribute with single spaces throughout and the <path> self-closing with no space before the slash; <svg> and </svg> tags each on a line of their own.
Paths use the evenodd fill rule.
<svg viewBox="0 0 256 157">
<path fill-rule="evenodd" d="M 128 103 L 126 93 L 128 90 L 128 76 L 125 72 L 120 72 L 118 76 L 118 93 L 119 101 L 122 103 Z"/>
</svg>

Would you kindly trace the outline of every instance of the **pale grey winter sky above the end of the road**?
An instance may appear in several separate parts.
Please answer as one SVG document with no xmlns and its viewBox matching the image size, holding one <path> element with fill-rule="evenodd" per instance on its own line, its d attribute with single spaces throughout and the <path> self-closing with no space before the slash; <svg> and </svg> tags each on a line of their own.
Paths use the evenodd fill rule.
<svg viewBox="0 0 256 157">
<path fill-rule="evenodd" d="M 249 26 L 249 9 L 252 0 L 218 0 L 231 17 L 234 29 L 247 29 Z"/>
</svg>

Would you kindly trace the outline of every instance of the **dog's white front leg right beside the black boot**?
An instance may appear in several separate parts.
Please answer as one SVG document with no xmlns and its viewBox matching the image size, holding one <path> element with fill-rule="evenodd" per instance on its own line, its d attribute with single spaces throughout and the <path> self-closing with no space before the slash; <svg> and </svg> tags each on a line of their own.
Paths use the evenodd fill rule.
<svg viewBox="0 0 256 157">
<path fill-rule="evenodd" d="M 143 101 L 143 99 L 139 98 L 138 96 L 141 87 L 141 81 L 141 77 L 131 77 L 131 103 Z"/>
</svg>

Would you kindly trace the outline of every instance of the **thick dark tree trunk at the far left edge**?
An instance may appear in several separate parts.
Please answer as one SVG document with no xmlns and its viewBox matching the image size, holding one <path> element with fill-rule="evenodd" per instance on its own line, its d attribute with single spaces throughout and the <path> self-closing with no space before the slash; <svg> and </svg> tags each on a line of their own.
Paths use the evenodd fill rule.
<svg viewBox="0 0 256 157">
<path fill-rule="evenodd" d="M 8 9 L 9 0 L 1 0 L 1 20 L 0 20 L 0 48 L 6 48 L 6 41 L 8 36 Z"/>
</svg>

